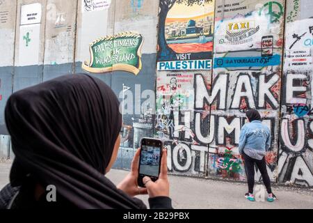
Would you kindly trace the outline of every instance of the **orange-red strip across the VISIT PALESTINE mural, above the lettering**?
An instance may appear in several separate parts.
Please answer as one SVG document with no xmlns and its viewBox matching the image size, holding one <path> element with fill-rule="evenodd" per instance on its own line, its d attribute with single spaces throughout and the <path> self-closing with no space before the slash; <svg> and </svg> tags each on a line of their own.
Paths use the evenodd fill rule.
<svg viewBox="0 0 313 223">
<path fill-rule="evenodd" d="M 198 53 L 198 52 L 212 52 L 213 43 L 176 43 L 169 44 L 168 47 L 172 48 L 178 54 Z"/>
</svg>

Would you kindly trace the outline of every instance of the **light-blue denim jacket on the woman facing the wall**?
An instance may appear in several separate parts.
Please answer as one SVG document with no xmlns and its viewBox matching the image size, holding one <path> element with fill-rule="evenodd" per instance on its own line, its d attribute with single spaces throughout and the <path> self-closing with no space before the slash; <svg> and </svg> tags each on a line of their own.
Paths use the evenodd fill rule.
<svg viewBox="0 0 313 223">
<path fill-rule="evenodd" d="M 261 121 L 252 121 L 243 125 L 239 137 L 240 154 L 243 154 L 243 148 L 268 151 L 270 146 L 271 132 Z"/>
</svg>

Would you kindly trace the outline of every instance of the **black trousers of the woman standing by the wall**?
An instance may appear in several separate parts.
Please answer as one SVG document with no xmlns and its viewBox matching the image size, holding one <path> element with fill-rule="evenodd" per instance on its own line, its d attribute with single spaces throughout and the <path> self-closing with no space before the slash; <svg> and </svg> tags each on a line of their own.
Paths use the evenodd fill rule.
<svg viewBox="0 0 313 223">
<path fill-rule="evenodd" d="M 266 162 L 265 157 L 262 160 L 256 160 L 251 158 L 250 156 L 243 153 L 243 159 L 245 163 L 246 174 L 248 178 L 248 189 L 249 193 L 253 193 L 253 187 L 255 186 L 255 164 L 257 164 L 257 168 L 259 169 L 260 173 L 262 174 L 262 179 L 268 194 L 271 194 L 271 180 L 268 177 L 267 170 L 266 170 Z"/>
</svg>

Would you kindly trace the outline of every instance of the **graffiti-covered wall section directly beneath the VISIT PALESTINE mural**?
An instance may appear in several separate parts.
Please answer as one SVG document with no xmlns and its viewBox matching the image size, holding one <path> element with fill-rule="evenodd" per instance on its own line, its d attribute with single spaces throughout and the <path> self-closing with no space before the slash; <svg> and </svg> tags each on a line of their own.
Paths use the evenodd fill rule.
<svg viewBox="0 0 313 223">
<path fill-rule="evenodd" d="M 155 133 L 168 146 L 170 171 L 181 174 L 206 171 L 209 107 L 195 109 L 195 89 L 204 93 L 197 88 L 196 75 L 186 71 L 157 72 Z M 210 83 L 209 72 L 198 75 L 204 75 L 205 83 Z"/>
</svg>

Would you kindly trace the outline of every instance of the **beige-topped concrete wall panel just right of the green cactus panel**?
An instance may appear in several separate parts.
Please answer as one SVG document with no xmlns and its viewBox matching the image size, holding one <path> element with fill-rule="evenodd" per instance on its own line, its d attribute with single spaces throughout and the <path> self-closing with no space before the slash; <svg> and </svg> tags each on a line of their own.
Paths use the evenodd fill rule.
<svg viewBox="0 0 313 223">
<path fill-rule="evenodd" d="M 78 1 L 47 1 L 43 81 L 74 72 Z"/>
</svg>

